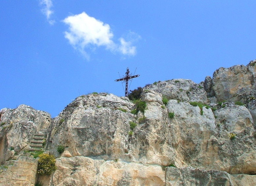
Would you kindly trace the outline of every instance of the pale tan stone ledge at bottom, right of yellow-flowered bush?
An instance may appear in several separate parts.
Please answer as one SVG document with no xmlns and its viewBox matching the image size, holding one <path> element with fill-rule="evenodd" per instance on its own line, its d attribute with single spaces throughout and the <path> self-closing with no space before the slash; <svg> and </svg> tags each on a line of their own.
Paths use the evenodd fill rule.
<svg viewBox="0 0 256 186">
<path fill-rule="evenodd" d="M 165 185 L 165 173 L 160 166 L 83 156 L 58 158 L 56 166 L 52 185 Z"/>
</svg>

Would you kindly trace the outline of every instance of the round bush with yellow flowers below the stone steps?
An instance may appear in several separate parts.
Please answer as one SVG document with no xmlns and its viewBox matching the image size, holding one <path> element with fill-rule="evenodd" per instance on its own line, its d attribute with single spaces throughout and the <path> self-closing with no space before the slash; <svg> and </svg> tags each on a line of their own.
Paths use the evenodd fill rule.
<svg viewBox="0 0 256 186">
<path fill-rule="evenodd" d="M 40 154 L 38 160 L 37 173 L 39 174 L 51 174 L 57 168 L 55 166 L 55 157 L 49 154 Z"/>
</svg>

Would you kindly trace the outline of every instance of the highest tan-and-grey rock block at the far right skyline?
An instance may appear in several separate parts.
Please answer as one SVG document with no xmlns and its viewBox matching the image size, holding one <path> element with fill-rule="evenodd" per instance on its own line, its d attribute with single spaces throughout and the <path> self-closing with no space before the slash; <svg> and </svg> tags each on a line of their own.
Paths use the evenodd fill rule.
<svg viewBox="0 0 256 186">
<path fill-rule="evenodd" d="M 256 60 L 247 66 L 220 67 L 213 73 L 213 91 L 218 101 L 238 101 L 238 95 L 255 89 Z"/>
</svg>

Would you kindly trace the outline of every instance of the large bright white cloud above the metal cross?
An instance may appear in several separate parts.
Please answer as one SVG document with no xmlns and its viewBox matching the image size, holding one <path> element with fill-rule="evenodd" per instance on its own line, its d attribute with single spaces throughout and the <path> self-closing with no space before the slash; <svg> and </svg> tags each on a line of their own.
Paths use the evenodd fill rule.
<svg viewBox="0 0 256 186">
<path fill-rule="evenodd" d="M 87 15 L 85 12 L 66 17 L 63 22 L 69 25 L 69 31 L 65 32 L 65 38 L 70 44 L 79 50 L 89 60 L 86 48 L 105 46 L 112 52 L 120 52 L 124 55 L 135 55 L 136 47 L 132 46 L 132 40 L 126 41 L 120 38 L 120 44 L 116 44 L 112 38 L 110 26 L 100 20 Z"/>
</svg>

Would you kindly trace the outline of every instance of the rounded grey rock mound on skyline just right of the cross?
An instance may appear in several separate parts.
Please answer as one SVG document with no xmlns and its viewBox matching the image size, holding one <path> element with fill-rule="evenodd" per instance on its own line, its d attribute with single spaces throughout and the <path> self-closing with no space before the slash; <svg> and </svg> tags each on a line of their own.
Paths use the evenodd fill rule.
<svg viewBox="0 0 256 186">
<path fill-rule="evenodd" d="M 147 85 L 143 88 L 144 91 L 153 90 L 161 93 L 169 99 L 180 101 L 197 101 L 207 103 L 207 93 L 201 84 L 196 84 L 188 79 L 173 79 L 162 81 L 156 85 Z"/>
</svg>

